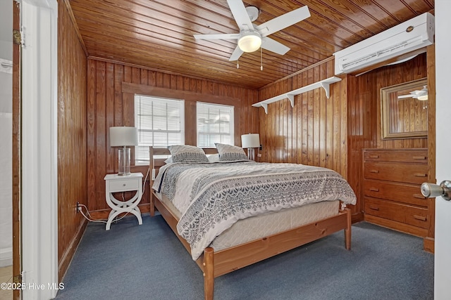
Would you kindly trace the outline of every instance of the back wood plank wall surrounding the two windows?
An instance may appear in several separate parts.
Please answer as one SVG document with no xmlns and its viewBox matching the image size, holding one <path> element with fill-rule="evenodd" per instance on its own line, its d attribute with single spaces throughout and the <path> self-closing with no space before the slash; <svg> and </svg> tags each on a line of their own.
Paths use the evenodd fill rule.
<svg viewBox="0 0 451 300">
<path fill-rule="evenodd" d="M 110 211 L 105 202 L 104 176 L 117 172 L 117 150 L 109 146 L 108 131 L 111 126 L 134 126 L 133 89 L 150 96 L 179 95 L 183 99 L 197 95 L 206 102 L 224 98 L 230 103 L 230 99 L 235 99 L 235 144 L 240 145 L 242 133 L 258 132 L 258 109 L 251 106 L 257 102 L 255 90 L 94 59 L 88 60 L 87 72 L 87 197 L 93 216 L 105 218 Z M 196 144 L 194 114 L 195 101 L 185 100 L 185 127 L 189 126 L 185 128 L 185 143 L 191 145 Z M 147 169 L 148 166 L 132 166 L 132 171 L 144 176 Z M 149 211 L 148 203 L 146 188 L 142 211 Z"/>
</svg>

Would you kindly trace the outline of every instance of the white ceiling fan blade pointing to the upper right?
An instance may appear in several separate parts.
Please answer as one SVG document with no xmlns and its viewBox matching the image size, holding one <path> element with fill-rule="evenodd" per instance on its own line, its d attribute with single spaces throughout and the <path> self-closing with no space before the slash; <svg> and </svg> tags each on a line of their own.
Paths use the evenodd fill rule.
<svg viewBox="0 0 451 300">
<path fill-rule="evenodd" d="M 277 18 L 273 18 L 268 22 L 264 22 L 263 24 L 255 27 L 255 29 L 261 34 L 261 37 L 266 37 L 269 34 L 283 30 L 288 26 L 309 18 L 309 16 L 309 8 L 307 6 L 302 6 L 294 11 L 290 11 L 289 13 L 280 15 Z"/>
</svg>

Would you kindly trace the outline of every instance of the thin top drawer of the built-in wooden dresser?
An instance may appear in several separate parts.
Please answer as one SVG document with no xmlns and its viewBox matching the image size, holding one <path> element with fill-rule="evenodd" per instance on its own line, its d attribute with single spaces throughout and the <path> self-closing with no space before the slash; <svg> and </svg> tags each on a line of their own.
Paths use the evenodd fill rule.
<svg viewBox="0 0 451 300">
<path fill-rule="evenodd" d="M 400 150 L 364 150 L 364 160 L 374 162 L 416 162 L 428 163 L 426 149 L 400 149 Z"/>
</svg>

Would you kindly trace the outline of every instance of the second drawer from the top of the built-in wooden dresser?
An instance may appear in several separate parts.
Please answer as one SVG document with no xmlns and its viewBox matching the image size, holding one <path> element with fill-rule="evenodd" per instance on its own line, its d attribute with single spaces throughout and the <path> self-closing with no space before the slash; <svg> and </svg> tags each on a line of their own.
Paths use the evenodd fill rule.
<svg viewBox="0 0 451 300">
<path fill-rule="evenodd" d="M 402 162 L 365 162 L 364 176 L 383 181 L 421 184 L 428 180 L 428 166 Z"/>
</svg>

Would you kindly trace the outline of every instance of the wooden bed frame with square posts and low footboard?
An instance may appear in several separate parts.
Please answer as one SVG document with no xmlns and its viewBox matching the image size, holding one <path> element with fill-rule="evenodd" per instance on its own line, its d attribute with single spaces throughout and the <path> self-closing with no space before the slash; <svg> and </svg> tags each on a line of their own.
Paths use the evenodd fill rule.
<svg viewBox="0 0 451 300">
<path fill-rule="evenodd" d="M 204 152 L 208 154 L 217 153 L 215 148 L 204 148 Z M 166 148 L 150 147 L 150 168 L 155 169 L 155 173 L 159 167 L 163 166 L 164 159 L 154 159 L 154 155 L 169 155 Z M 153 179 L 153 178 L 152 178 Z M 166 204 L 161 202 L 152 190 L 153 180 L 150 181 L 150 215 L 154 216 L 155 207 L 160 212 L 163 219 L 172 228 L 180 242 L 185 246 L 191 254 L 190 244 L 178 235 L 177 223 L 178 218 L 171 212 Z M 204 273 L 204 298 L 206 300 L 213 299 L 214 296 L 214 278 L 230 273 L 233 270 L 249 266 L 269 257 L 286 252 L 296 247 L 302 246 L 314 240 L 319 240 L 339 230 L 345 230 L 345 247 L 351 249 L 351 212 L 350 209 L 339 211 L 339 214 L 328 219 L 322 219 L 314 223 L 309 223 L 291 230 L 281 233 L 269 235 L 267 237 L 246 242 L 235 247 L 223 249 L 214 252 L 214 249 L 208 247 L 204 250 L 204 254 L 197 259 L 196 263 Z"/>
</svg>

